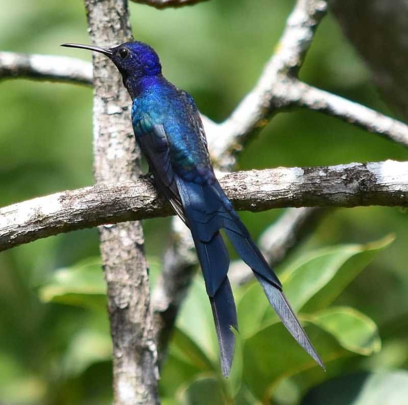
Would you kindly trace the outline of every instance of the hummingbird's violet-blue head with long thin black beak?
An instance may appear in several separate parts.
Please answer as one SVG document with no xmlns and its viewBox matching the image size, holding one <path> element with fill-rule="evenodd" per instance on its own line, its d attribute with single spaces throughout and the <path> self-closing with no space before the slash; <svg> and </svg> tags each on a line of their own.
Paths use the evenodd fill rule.
<svg viewBox="0 0 408 405">
<path fill-rule="evenodd" d="M 156 51 L 143 42 L 125 42 L 113 48 L 80 43 L 64 43 L 61 46 L 87 49 L 106 55 L 119 69 L 124 83 L 127 78 L 138 80 L 146 76 L 160 75 L 162 72 Z"/>
</svg>

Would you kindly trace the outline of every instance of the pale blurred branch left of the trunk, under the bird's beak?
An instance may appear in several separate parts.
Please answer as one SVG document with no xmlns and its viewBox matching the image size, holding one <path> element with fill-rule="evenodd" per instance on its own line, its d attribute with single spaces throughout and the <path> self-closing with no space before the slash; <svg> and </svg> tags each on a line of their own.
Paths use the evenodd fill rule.
<svg viewBox="0 0 408 405">
<path fill-rule="evenodd" d="M 65 56 L 0 52 L 0 80 L 27 78 L 92 84 L 92 65 Z"/>
</svg>

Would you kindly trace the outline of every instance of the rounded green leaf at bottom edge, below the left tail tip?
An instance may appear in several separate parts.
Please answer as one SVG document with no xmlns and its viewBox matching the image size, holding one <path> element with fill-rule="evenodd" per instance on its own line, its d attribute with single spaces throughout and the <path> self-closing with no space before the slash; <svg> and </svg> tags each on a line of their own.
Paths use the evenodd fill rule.
<svg viewBox="0 0 408 405">
<path fill-rule="evenodd" d="M 222 385 L 216 378 L 199 377 L 181 393 L 184 405 L 225 405 Z"/>
</svg>

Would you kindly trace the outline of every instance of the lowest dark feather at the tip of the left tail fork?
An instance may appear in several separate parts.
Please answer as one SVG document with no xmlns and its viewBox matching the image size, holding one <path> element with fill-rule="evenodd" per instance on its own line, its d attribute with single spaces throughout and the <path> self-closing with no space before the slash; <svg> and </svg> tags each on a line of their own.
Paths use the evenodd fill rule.
<svg viewBox="0 0 408 405">
<path fill-rule="evenodd" d="M 218 291 L 210 297 L 218 345 L 222 374 L 228 377 L 234 357 L 235 335 L 231 327 L 238 331 L 237 311 L 230 281 L 225 277 Z"/>
</svg>

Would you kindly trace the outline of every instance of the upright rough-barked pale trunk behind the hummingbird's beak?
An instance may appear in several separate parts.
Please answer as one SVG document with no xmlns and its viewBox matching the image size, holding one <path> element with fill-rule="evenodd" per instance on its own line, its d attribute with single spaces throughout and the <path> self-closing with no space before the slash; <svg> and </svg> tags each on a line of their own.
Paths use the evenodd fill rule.
<svg viewBox="0 0 408 405">
<path fill-rule="evenodd" d="M 114 46 L 132 38 L 126 0 L 85 0 L 92 42 Z M 116 67 L 93 55 L 95 182 L 139 175 L 140 152 L 131 126 L 131 99 Z M 158 403 L 157 350 L 150 313 L 147 263 L 140 222 L 99 227 L 108 284 L 116 405 Z"/>
</svg>

